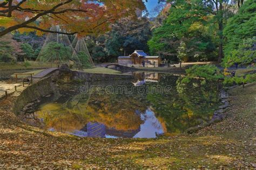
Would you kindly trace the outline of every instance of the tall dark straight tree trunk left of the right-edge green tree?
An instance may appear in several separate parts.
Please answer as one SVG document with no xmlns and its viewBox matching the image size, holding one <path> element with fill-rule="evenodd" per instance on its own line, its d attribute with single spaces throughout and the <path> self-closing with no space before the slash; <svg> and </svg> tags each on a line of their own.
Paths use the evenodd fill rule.
<svg viewBox="0 0 256 170">
<path fill-rule="evenodd" d="M 218 10 L 218 25 L 219 25 L 219 57 L 218 62 L 221 62 L 223 59 L 223 6 L 222 1 L 219 1 L 219 10 Z"/>
</svg>

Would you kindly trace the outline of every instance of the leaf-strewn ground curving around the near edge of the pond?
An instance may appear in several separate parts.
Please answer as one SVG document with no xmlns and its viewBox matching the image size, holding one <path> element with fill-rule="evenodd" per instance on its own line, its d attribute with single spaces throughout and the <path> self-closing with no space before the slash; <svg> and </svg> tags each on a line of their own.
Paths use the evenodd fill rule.
<svg viewBox="0 0 256 170">
<path fill-rule="evenodd" d="M 0 169 L 255 168 L 256 83 L 230 94 L 223 122 L 197 134 L 159 139 L 81 139 L 33 128 L 11 112 L 15 94 L 0 103 Z"/>
</svg>

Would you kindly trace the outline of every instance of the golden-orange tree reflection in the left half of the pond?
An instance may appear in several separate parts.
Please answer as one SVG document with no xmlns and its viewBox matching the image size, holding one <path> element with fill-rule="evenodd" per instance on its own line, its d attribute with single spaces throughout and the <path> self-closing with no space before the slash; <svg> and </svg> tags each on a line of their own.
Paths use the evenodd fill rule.
<svg viewBox="0 0 256 170">
<path fill-rule="evenodd" d="M 61 132 L 82 129 L 89 122 L 98 122 L 119 131 L 137 130 L 143 121 L 140 113 L 146 105 L 137 95 L 86 95 L 65 96 L 60 103 L 44 104 L 36 112 L 44 120 L 46 128 Z"/>
</svg>

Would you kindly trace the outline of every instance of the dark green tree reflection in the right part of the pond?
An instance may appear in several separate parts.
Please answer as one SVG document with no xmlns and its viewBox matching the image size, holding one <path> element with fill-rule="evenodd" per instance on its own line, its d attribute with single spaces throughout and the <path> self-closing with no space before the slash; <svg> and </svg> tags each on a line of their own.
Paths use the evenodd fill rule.
<svg viewBox="0 0 256 170">
<path fill-rule="evenodd" d="M 210 84 L 201 83 L 199 89 L 194 80 L 188 84 L 182 83 L 181 76 L 170 76 L 166 83 L 176 81 L 176 90 L 172 94 L 148 94 L 147 100 L 152 103 L 152 108 L 164 124 L 166 130 L 171 133 L 185 131 L 191 126 L 208 121 L 213 111 L 217 108 L 217 91 Z"/>
</svg>

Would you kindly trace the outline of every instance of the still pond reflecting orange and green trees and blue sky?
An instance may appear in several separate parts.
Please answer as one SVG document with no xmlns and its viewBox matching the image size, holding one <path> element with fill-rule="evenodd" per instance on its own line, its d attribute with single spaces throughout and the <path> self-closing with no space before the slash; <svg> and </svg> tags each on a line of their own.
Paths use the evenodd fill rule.
<svg viewBox="0 0 256 170">
<path fill-rule="evenodd" d="M 184 84 L 183 75 L 133 74 L 134 80 L 57 84 L 56 94 L 26 112 L 45 129 L 79 137 L 156 138 L 209 121 L 219 106 L 214 83 L 194 79 Z"/>
</svg>

